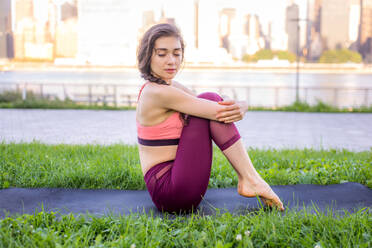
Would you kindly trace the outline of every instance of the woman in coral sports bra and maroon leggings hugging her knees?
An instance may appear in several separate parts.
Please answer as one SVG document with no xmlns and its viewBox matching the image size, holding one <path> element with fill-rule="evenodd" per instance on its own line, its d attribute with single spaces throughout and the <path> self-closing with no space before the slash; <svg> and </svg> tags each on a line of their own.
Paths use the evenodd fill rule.
<svg viewBox="0 0 372 248">
<path fill-rule="evenodd" d="M 159 210 L 195 209 L 209 182 L 212 140 L 238 174 L 238 193 L 283 204 L 260 177 L 233 122 L 247 111 L 242 102 L 215 93 L 196 96 L 173 80 L 183 61 L 184 43 L 170 24 L 151 27 L 138 48 L 138 67 L 146 80 L 138 95 L 138 149 L 147 189 Z"/>
</svg>

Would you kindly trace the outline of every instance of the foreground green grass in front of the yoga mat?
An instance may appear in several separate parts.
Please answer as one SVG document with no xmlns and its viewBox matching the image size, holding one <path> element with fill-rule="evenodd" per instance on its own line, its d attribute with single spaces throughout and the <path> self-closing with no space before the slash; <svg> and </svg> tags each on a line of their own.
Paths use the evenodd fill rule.
<svg viewBox="0 0 372 248">
<path fill-rule="evenodd" d="M 58 217 L 35 213 L 0 220 L 1 247 L 371 247 L 372 214 L 284 215 L 258 211 L 204 216 L 131 214 Z M 318 246 L 316 246 L 318 245 Z"/>
</svg>

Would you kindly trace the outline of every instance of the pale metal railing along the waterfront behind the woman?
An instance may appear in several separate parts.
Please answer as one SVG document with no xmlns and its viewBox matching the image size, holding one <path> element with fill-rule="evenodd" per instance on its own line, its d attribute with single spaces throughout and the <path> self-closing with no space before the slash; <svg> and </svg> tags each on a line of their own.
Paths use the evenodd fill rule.
<svg viewBox="0 0 372 248">
<path fill-rule="evenodd" d="M 251 107 L 280 107 L 295 101 L 295 87 L 290 86 L 213 86 L 187 85 L 195 93 L 214 91 L 235 100 L 244 100 Z M 138 84 L 71 84 L 71 83 L 0 83 L 1 91 L 33 92 L 50 99 L 70 99 L 84 104 L 135 106 Z M 372 104 L 372 88 L 367 87 L 301 87 L 300 100 L 309 104 L 316 101 L 337 107 L 369 106 Z"/>
</svg>

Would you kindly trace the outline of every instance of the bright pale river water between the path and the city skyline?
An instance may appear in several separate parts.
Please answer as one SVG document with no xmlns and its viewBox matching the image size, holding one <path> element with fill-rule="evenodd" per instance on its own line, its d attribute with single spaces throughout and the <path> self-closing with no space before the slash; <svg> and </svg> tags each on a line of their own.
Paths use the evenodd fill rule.
<svg viewBox="0 0 372 248">
<path fill-rule="evenodd" d="M 176 80 L 189 87 L 196 86 L 194 88 L 196 92 L 218 91 L 239 100 L 247 100 L 252 106 L 282 106 L 290 104 L 295 99 L 295 73 L 183 70 Z M 119 84 L 123 88 L 120 94 L 124 94 L 124 92 L 125 94 L 136 94 L 142 80 L 137 70 L 0 72 L 0 86 L 16 83 Z M 61 95 L 63 91 L 66 93 L 67 86 L 64 89 L 54 87 L 54 90 L 51 86 L 48 87 L 50 92 Z M 223 88 L 221 89 L 221 87 Z M 247 90 L 243 87 L 250 88 Z M 300 98 L 310 104 L 315 104 L 317 99 L 339 107 L 372 104 L 372 74 L 301 73 L 300 87 Z M 306 90 L 304 89 L 306 87 L 313 89 Z M 315 89 L 320 87 L 327 89 Z M 355 90 L 355 88 L 363 89 Z M 43 91 L 48 91 L 48 89 L 44 87 Z M 69 89 L 69 91 L 71 94 L 76 94 L 77 91 L 87 94 L 87 89 L 82 87 L 75 91 Z M 103 88 L 99 89 L 97 86 L 96 91 L 102 92 Z"/>
</svg>

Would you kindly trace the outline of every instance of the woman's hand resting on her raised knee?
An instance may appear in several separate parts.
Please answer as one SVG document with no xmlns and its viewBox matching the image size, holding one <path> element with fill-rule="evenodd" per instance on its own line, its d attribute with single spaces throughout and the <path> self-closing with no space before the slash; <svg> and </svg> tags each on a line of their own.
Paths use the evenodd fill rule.
<svg viewBox="0 0 372 248">
<path fill-rule="evenodd" d="M 244 114 L 248 111 L 248 105 L 244 101 L 226 99 L 218 102 L 218 104 L 226 106 L 222 110 L 219 110 L 216 116 L 218 121 L 224 123 L 240 121 L 243 119 Z"/>
</svg>

